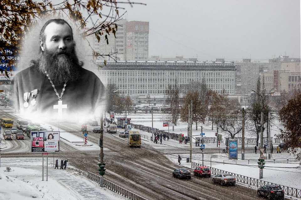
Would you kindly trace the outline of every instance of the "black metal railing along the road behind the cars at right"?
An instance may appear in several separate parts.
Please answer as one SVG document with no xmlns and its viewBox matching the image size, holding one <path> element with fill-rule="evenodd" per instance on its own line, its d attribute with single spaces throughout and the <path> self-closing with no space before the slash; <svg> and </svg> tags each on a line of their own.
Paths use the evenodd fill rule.
<svg viewBox="0 0 301 200">
<path fill-rule="evenodd" d="M 195 169 L 195 168 L 197 168 L 198 166 L 201 166 L 201 165 L 202 164 L 200 164 L 200 163 L 191 162 L 191 168 L 193 168 L 193 169 Z M 209 166 L 206 166 L 206 167 L 208 167 L 210 169 L 212 174 L 229 173 L 232 176 L 234 176 L 236 181 L 241 182 L 241 183 L 245 183 L 245 184 L 249 184 L 249 185 L 253 185 L 253 186 L 256 186 L 256 187 L 262 187 L 262 186 L 268 185 L 268 184 L 277 184 L 277 185 L 280 185 L 283 188 L 284 194 L 287 194 L 287 195 L 290 195 L 290 196 L 293 196 L 293 197 L 301 197 L 301 189 L 284 186 L 284 185 L 281 185 L 281 184 L 278 184 L 278 183 L 271 183 L 271 182 L 268 182 L 268 181 L 263 181 L 263 180 L 260 180 L 260 179 L 257 179 L 257 178 L 251 178 L 251 177 L 243 176 L 243 175 L 240 175 L 240 174 L 235 174 L 235 173 L 232 173 L 232 172 L 227 172 L 225 170 L 221 170 L 221 169 L 217 169 L 217 168 L 213 168 L 213 167 L 209 167 Z"/>
</svg>

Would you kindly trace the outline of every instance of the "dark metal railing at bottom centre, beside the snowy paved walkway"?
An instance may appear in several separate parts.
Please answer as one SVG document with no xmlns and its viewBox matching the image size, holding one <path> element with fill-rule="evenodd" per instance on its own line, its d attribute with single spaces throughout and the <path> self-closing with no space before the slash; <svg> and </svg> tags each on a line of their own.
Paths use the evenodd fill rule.
<svg viewBox="0 0 301 200">
<path fill-rule="evenodd" d="M 88 172 L 87 178 L 91 179 L 92 181 L 95 181 L 98 184 L 101 184 L 100 176 L 97 174 Z M 117 194 L 122 195 L 123 197 L 126 197 L 131 200 L 147 200 L 146 198 L 143 198 L 138 194 L 135 194 L 134 192 L 130 192 L 129 190 L 124 189 L 123 187 L 120 187 L 106 179 L 103 179 L 103 187 L 106 187 L 109 190 L 112 190 L 113 192 L 116 192 Z"/>
</svg>

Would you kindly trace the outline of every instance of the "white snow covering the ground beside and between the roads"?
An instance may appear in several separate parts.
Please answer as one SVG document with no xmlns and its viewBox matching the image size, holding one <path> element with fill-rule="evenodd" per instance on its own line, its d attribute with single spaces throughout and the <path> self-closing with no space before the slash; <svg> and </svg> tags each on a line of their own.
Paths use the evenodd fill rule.
<svg viewBox="0 0 301 200">
<path fill-rule="evenodd" d="M 124 117 L 123 115 L 115 116 Z M 151 114 L 139 113 L 127 116 L 131 118 L 131 122 L 135 124 L 143 124 L 151 127 Z M 154 127 L 168 131 L 168 127 L 163 127 L 164 115 L 154 113 Z M 55 129 L 55 127 L 53 127 Z M 72 133 L 61 131 L 61 141 L 82 150 L 98 150 L 99 147 L 95 143 L 88 140 L 90 146 L 76 145 L 83 141 L 83 138 L 75 137 Z M 121 130 L 120 130 L 121 131 Z M 187 124 L 179 123 L 175 130 L 169 127 L 169 131 L 173 133 L 183 133 L 187 135 Z M 151 133 L 140 131 L 142 135 L 150 138 Z M 201 133 L 200 127 L 196 131 L 193 127 L 193 135 Z M 214 137 L 215 132 L 211 130 L 209 124 L 203 125 L 203 133 L 207 137 Z M 105 143 L 105 142 L 104 142 Z M 178 141 L 163 141 L 163 144 L 155 144 L 149 139 L 143 139 L 143 143 L 152 145 L 156 149 L 166 148 L 167 146 L 176 146 L 182 149 L 189 149 L 189 144 L 179 144 Z M 1 148 L 8 147 L 9 142 L 1 144 Z M 143 145 L 143 144 L 142 144 Z M 254 144 L 249 144 L 253 147 Z M 277 145 L 277 144 L 275 144 Z M 217 148 L 216 144 L 206 144 L 206 148 Z M 246 145 L 248 147 L 248 145 Z M 193 144 L 193 149 L 195 147 Z M 221 149 L 224 148 L 221 145 Z M 206 152 L 206 151 L 205 151 Z M 245 175 L 248 177 L 259 178 L 259 168 L 257 167 L 257 159 L 259 154 L 246 153 L 245 160 L 241 160 L 241 154 L 238 154 L 238 160 L 229 160 L 227 154 L 217 153 L 217 158 L 211 158 L 212 154 L 204 154 L 204 164 L 227 170 L 229 172 Z M 189 157 L 187 154 L 181 154 L 182 158 Z M 168 155 L 172 162 L 177 163 L 177 155 Z M 287 163 L 287 158 L 289 163 Z M 276 163 L 273 163 L 275 159 Z M 67 170 L 54 169 L 53 159 L 48 159 L 48 181 L 46 181 L 46 158 L 44 158 L 44 181 L 42 181 L 42 159 L 41 158 L 1 158 L 0 167 L 0 200 L 1 199 L 124 199 L 119 195 L 106 188 L 99 187 L 98 184 L 88 180 L 83 176 L 82 172 L 71 165 L 67 166 Z M 210 162 L 210 160 L 212 162 Z M 191 163 L 186 163 L 186 159 L 182 160 L 182 166 L 191 167 Z M 202 163 L 202 154 L 193 153 L 193 162 Z M 219 163 L 220 162 L 220 163 Z M 238 165 L 240 164 L 240 165 Z M 293 156 L 288 153 L 273 153 L 272 159 L 266 159 L 266 168 L 263 170 L 263 180 L 279 183 L 289 187 L 301 188 L 301 170 L 298 168 L 299 162 L 293 161 Z M 7 171 L 7 167 L 11 170 Z M 109 170 L 109 169 L 107 169 Z M 87 172 L 84 172 L 87 173 Z M 87 188 L 89 188 L 87 190 Z M 255 188 L 255 187 L 254 187 Z M 298 198 L 292 198 L 298 199 Z M 300 198 L 299 198 L 300 199 Z"/>
</svg>

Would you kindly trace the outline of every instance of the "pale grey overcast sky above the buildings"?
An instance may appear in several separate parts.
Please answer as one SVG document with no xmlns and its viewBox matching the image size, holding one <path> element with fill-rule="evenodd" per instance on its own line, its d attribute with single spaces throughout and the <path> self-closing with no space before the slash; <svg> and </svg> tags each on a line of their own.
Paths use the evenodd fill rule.
<svg viewBox="0 0 301 200">
<path fill-rule="evenodd" d="M 150 22 L 149 57 L 300 58 L 300 0 L 131 1 L 147 4 L 126 6 L 126 16 Z"/>
</svg>

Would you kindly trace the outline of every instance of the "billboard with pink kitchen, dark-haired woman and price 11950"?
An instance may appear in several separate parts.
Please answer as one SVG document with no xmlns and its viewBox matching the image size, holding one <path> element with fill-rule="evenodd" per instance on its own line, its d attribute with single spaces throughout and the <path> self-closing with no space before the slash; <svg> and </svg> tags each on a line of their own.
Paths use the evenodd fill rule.
<svg viewBox="0 0 301 200">
<path fill-rule="evenodd" d="M 60 131 L 31 131 L 31 153 L 59 152 Z"/>
</svg>

